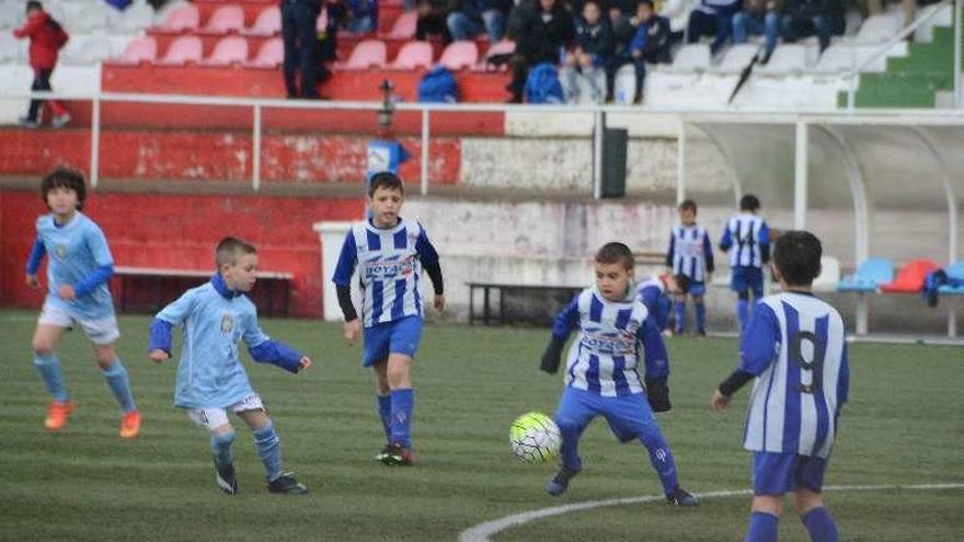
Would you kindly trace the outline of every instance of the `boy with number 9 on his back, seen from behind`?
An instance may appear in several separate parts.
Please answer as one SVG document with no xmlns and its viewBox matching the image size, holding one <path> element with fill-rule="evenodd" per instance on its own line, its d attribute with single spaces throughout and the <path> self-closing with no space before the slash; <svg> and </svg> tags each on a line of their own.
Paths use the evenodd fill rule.
<svg viewBox="0 0 964 542">
<path fill-rule="evenodd" d="M 844 321 L 816 299 L 819 240 L 789 231 L 773 250 L 773 278 L 782 293 L 757 301 L 741 343 L 741 364 L 713 392 L 716 412 L 748 381 L 744 448 L 753 452 L 754 498 L 748 542 L 777 540 L 783 495 L 793 492 L 811 540 L 836 542 L 837 526 L 820 492 L 850 387 Z"/>
</svg>

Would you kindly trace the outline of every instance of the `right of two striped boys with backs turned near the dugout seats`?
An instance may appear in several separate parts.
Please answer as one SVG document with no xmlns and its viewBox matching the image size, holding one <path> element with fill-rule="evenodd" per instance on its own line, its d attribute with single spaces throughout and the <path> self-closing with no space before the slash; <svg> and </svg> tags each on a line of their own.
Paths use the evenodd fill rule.
<svg viewBox="0 0 964 542">
<path fill-rule="evenodd" d="M 753 291 L 755 300 L 764 297 L 764 266 L 770 261 L 770 229 L 757 216 L 759 209 L 760 200 L 756 196 L 743 196 L 739 214 L 726 222 L 720 239 L 720 250 L 730 251 L 733 273 L 730 289 L 736 292 L 736 320 L 741 333 L 749 316 L 749 292 Z"/>
</svg>

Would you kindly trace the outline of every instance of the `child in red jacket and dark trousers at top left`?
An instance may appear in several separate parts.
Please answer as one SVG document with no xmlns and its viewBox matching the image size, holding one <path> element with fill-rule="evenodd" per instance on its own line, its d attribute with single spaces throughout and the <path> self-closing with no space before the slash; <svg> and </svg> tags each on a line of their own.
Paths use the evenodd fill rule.
<svg viewBox="0 0 964 542">
<path fill-rule="evenodd" d="M 69 39 L 69 36 L 57 21 L 54 21 L 41 2 L 30 0 L 26 3 L 26 22 L 20 28 L 13 31 L 13 35 L 20 39 L 30 38 L 30 62 L 34 70 L 32 91 L 51 91 L 50 74 L 57 67 L 57 54 L 60 47 Z M 27 128 L 37 128 L 41 125 L 41 105 L 43 100 L 31 100 L 30 109 L 20 124 Z M 70 122 L 70 113 L 57 100 L 48 100 L 54 117 L 50 125 L 60 128 Z"/>
</svg>

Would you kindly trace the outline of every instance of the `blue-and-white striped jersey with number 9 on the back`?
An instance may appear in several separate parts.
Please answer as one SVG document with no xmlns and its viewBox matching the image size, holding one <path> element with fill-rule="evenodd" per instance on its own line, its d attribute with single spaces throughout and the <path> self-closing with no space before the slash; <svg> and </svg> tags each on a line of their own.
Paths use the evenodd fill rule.
<svg viewBox="0 0 964 542">
<path fill-rule="evenodd" d="M 739 369 L 757 377 L 744 447 L 827 458 L 850 381 L 840 314 L 806 293 L 769 296 L 743 337 Z"/>
</svg>

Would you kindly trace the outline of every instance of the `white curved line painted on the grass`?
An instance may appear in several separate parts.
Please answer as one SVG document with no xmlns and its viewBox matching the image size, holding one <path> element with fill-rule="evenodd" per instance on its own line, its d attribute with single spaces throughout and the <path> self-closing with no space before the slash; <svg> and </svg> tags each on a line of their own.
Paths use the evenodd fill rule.
<svg viewBox="0 0 964 542">
<path fill-rule="evenodd" d="M 964 488 L 964 484 L 959 483 L 949 483 L 949 484 L 917 484 L 917 485 L 829 485 L 824 487 L 826 492 L 882 492 L 890 489 L 961 489 Z M 698 496 L 701 499 L 708 498 L 722 498 L 722 497 L 735 497 L 737 495 L 749 495 L 751 492 L 749 489 L 727 489 L 720 492 L 710 492 L 710 493 L 700 493 Z M 585 503 L 573 503 L 571 505 L 563 506 L 553 506 L 550 508 L 542 508 L 539 510 L 529 510 L 520 514 L 514 514 L 512 516 L 506 516 L 501 519 L 494 519 L 492 521 L 486 521 L 484 523 L 479 523 L 475 527 L 470 527 L 462 531 L 459 540 L 461 542 L 491 542 L 489 537 L 493 534 L 497 534 L 501 531 L 509 529 L 512 527 L 517 527 L 523 523 L 528 523 L 529 521 L 533 521 L 537 519 L 549 518 L 552 516 L 561 516 L 563 514 L 569 514 L 573 511 L 579 510 L 589 510 L 593 508 L 602 508 L 606 506 L 621 506 L 621 505 L 638 505 L 643 503 L 653 503 L 656 500 L 663 500 L 663 495 L 644 495 L 642 497 L 623 497 L 623 498 L 612 498 L 607 500 L 588 500 Z"/>
</svg>

